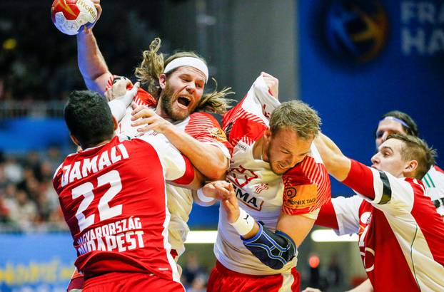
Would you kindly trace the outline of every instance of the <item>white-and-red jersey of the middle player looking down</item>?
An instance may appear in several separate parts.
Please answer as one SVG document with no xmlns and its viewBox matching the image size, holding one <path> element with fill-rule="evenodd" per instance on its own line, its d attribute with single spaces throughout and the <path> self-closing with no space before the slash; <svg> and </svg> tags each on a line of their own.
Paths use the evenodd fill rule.
<svg viewBox="0 0 444 292">
<path fill-rule="evenodd" d="M 233 145 L 227 179 L 233 183 L 239 207 L 272 231 L 281 212 L 316 219 L 318 209 L 330 199 L 330 180 L 314 145 L 303 162 L 283 176 L 272 172 L 268 162 L 253 158 L 253 145 L 268 128 L 268 119 L 278 105 L 259 76 L 241 103 L 223 117 L 223 129 Z M 262 264 L 243 246 L 223 209 L 219 212 L 214 253 L 231 271 L 253 275 L 290 273 L 297 261 L 295 257 L 281 270 Z"/>
</svg>

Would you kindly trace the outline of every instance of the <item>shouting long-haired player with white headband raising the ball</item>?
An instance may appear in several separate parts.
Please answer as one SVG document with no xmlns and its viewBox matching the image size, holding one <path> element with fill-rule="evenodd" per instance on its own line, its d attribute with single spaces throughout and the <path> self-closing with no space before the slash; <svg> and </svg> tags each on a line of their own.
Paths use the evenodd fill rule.
<svg viewBox="0 0 444 292">
<path fill-rule="evenodd" d="M 94 3 L 100 16 L 100 1 L 94 0 Z M 132 87 L 131 81 L 109 71 L 91 28 L 77 35 L 77 44 L 79 68 L 90 90 L 112 100 L 122 95 L 122 90 Z M 137 80 L 146 88 L 139 89 L 133 99 L 133 103 L 141 106 L 133 110 L 129 106 L 131 100 L 122 100 L 117 108 L 112 108 L 119 122 L 117 133 L 131 136 L 145 130 L 161 132 L 205 177 L 217 179 L 228 168 L 231 145 L 217 120 L 204 112 L 226 112 L 229 88 L 204 93 L 209 73 L 203 58 L 188 51 L 164 58 L 158 53 L 160 47 L 161 40 L 156 38 L 148 50 L 143 51 L 143 61 L 135 71 Z M 168 240 L 177 259 L 184 251 L 183 241 L 189 231 L 186 222 L 193 201 L 206 203 L 200 202 L 188 189 L 169 184 L 167 194 L 171 212 Z"/>
</svg>

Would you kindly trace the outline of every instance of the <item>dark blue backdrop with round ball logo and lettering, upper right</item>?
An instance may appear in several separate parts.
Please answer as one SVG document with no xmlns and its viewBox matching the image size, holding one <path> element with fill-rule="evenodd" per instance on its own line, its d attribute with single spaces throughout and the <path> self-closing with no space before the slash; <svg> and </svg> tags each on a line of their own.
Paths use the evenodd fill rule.
<svg viewBox="0 0 444 292">
<path fill-rule="evenodd" d="M 443 157 L 444 2 L 297 4 L 301 99 L 318 110 L 323 132 L 370 165 L 380 116 L 401 110 Z M 332 190 L 350 194 L 340 184 Z"/>
</svg>

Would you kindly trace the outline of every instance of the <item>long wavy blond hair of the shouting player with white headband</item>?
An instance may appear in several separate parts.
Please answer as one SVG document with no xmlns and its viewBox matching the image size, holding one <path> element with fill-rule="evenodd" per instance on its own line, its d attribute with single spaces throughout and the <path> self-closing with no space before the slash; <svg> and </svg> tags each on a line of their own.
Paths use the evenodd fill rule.
<svg viewBox="0 0 444 292">
<path fill-rule="evenodd" d="M 168 63 L 181 57 L 199 58 L 206 63 L 201 56 L 198 56 L 191 51 L 174 53 L 172 56 L 166 58 L 166 60 L 163 60 L 164 55 L 163 53 L 158 53 L 159 48 L 161 48 L 161 39 L 154 38 L 148 50 L 143 51 L 143 60 L 134 71 L 137 80 L 140 81 L 141 84 L 147 86 L 148 93 L 153 95 L 153 98 L 156 98 L 156 100 L 158 100 L 162 91 L 162 88 L 158 83 L 158 78 L 163 73 L 163 70 Z M 230 87 L 217 91 L 216 79 L 211 79 L 216 84 L 215 89 L 211 93 L 203 93 L 201 100 L 199 100 L 196 107 L 196 111 L 206 111 L 218 114 L 226 113 L 228 108 L 230 108 L 230 104 L 233 102 L 232 99 L 226 98 L 226 96 L 233 94 L 233 91 L 231 91 Z"/>
</svg>

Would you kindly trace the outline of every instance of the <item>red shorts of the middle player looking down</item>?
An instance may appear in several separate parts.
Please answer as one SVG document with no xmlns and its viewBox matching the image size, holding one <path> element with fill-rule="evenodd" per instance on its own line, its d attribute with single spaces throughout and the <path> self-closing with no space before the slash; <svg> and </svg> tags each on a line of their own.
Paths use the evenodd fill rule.
<svg viewBox="0 0 444 292">
<path fill-rule="evenodd" d="M 211 271 L 208 279 L 208 292 L 278 292 L 281 291 L 299 291 L 301 275 L 296 268 L 291 269 L 291 273 L 276 275 L 248 275 L 246 273 L 237 273 L 222 266 L 216 261 L 216 266 Z"/>
</svg>

